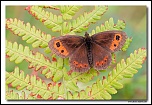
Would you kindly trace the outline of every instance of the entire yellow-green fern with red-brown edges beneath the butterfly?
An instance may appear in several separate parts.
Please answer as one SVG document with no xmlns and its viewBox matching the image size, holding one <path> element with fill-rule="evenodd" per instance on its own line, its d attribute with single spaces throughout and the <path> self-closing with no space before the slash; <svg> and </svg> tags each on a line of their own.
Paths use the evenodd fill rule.
<svg viewBox="0 0 152 105">
<path fill-rule="evenodd" d="M 45 10 L 53 9 L 60 12 L 55 15 Z M 25 9 L 36 19 L 40 20 L 44 25 L 53 32 L 60 32 L 61 35 L 75 34 L 86 31 L 92 24 L 101 19 L 101 16 L 107 11 L 107 6 L 95 6 L 91 12 L 84 12 L 82 15 L 73 19 L 73 16 L 80 11 L 82 6 L 28 6 Z M 110 18 L 101 26 L 96 26 L 90 35 L 106 30 L 123 30 L 126 24 L 122 20 L 114 22 Z M 24 24 L 19 19 L 6 19 L 6 29 L 13 34 L 22 37 L 22 40 L 28 44 L 32 44 L 33 48 L 45 48 L 46 53 L 50 53 L 48 42 L 52 35 L 45 34 L 41 30 L 31 26 L 30 23 Z M 128 38 L 122 47 L 122 51 L 126 51 L 132 42 L 132 38 Z M 41 79 L 36 75 L 25 75 L 24 71 L 18 67 L 13 72 L 6 72 L 6 99 L 112 99 L 111 94 L 116 94 L 116 89 L 123 88 L 121 79 L 132 78 L 137 69 L 141 68 L 142 62 L 146 57 L 145 49 L 138 49 L 126 62 L 122 60 L 103 79 L 97 79 L 100 72 L 93 68 L 86 73 L 77 73 L 69 70 L 68 59 L 62 59 L 55 55 L 44 55 L 40 52 L 32 52 L 28 46 L 23 46 L 17 42 L 6 41 L 6 55 L 10 61 L 22 63 L 23 60 L 29 63 L 28 68 L 34 71 L 40 71 L 45 76 Z M 115 54 L 112 54 L 112 63 L 116 63 Z M 24 68 L 25 69 L 25 68 Z M 49 80 L 46 80 L 49 79 Z M 91 86 L 81 89 L 78 83 L 86 85 L 93 82 Z M 14 89 L 15 88 L 15 89 Z M 14 91 L 15 90 L 15 91 Z"/>
</svg>

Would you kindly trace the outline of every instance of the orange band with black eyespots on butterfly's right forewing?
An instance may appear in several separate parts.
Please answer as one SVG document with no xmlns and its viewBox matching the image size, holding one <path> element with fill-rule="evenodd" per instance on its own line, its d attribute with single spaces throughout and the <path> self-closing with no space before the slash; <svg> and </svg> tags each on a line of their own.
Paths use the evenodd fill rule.
<svg viewBox="0 0 152 105">
<path fill-rule="evenodd" d="M 110 45 L 110 49 L 112 51 L 115 50 L 118 47 L 121 40 L 122 40 L 121 34 L 115 34 L 114 39 Z"/>
</svg>

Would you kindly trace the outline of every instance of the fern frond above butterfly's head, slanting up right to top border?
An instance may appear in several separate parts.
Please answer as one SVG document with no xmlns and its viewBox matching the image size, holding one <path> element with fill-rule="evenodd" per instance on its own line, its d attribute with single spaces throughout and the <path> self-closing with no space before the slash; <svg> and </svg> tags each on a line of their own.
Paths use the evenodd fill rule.
<svg viewBox="0 0 152 105">
<path fill-rule="evenodd" d="M 71 23 L 71 31 L 69 33 L 75 32 L 82 32 L 87 30 L 88 26 L 91 23 L 95 23 L 97 20 L 100 20 L 101 15 L 103 15 L 106 10 L 107 6 L 95 6 L 94 10 L 90 13 L 84 13 L 83 15 L 79 16 L 76 20 L 73 20 Z"/>
</svg>

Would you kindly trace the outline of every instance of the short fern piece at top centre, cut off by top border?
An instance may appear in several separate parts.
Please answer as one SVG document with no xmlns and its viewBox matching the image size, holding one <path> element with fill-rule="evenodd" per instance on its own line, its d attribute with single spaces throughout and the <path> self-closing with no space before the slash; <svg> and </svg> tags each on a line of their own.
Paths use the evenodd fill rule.
<svg viewBox="0 0 152 105">
<path fill-rule="evenodd" d="M 75 13 L 81 8 L 82 6 L 60 6 L 60 11 L 62 13 L 63 19 L 68 20 L 72 19 L 72 16 L 75 15 Z"/>
</svg>

